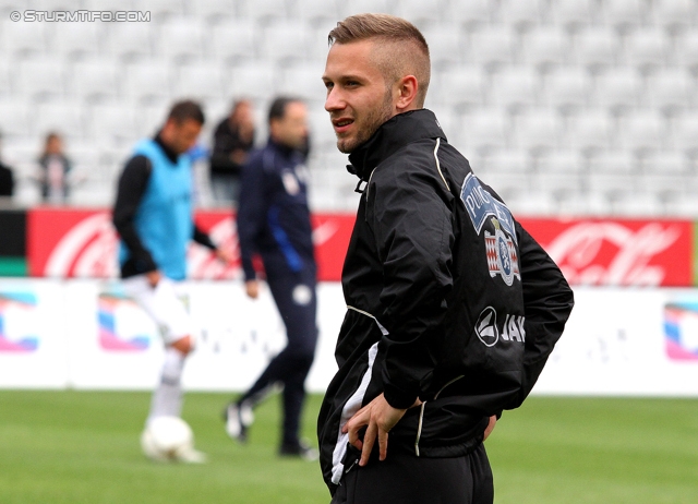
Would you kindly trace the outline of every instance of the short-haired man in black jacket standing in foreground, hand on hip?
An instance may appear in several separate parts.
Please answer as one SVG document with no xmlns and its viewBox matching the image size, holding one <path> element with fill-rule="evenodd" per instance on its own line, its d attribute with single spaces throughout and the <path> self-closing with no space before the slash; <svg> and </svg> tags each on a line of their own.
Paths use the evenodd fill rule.
<svg viewBox="0 0 698 504">
<path fill-rule="evenodd" d="M 336 504 L 491 504 L 482 441 L 531 391 L 571 290 L 422 108 L 419 31 L 362 14 L 329 39 L 325 108 L 363 190 L 317 424 L 325 482 Z"/>
</svg>

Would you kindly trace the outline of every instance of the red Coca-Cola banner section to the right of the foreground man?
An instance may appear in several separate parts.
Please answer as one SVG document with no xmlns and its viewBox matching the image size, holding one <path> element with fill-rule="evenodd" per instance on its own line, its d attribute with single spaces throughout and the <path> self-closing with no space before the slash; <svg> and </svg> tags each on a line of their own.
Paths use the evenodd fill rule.
<svg viewBox="0 0 698 504">
<path fill-rule="evenodd" d="M 520 219 L 571 285 L 693 285 L 689 220 Z"/>
</svg>

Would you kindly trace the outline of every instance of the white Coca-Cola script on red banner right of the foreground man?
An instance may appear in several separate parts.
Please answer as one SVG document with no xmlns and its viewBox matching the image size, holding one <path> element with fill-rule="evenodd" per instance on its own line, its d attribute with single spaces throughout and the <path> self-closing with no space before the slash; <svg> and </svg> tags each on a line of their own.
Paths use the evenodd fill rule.
<svg viewBox="0 0 698 504">
<path fill-rule="evenodd" d="M 671 248 L 678 226 L 649 223 L 637 230 L 613 221 L 576 224 L 545 250 L 570 284 L 659 286 L 666 276 L 662 264 L 650 264 Z"/>
</svg>

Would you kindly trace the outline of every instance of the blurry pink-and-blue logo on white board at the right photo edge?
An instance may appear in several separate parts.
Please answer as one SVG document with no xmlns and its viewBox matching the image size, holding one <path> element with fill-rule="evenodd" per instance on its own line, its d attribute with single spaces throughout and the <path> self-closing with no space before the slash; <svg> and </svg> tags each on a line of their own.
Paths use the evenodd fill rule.
<svg viewBox="0 0 698 504">
<path fill-rule="evenodd" d="M 664 307 L 664 341 L 670 359 L 698 361 L 698 300 Z"/>
</svg>

